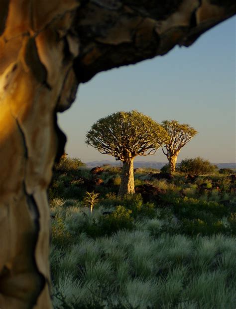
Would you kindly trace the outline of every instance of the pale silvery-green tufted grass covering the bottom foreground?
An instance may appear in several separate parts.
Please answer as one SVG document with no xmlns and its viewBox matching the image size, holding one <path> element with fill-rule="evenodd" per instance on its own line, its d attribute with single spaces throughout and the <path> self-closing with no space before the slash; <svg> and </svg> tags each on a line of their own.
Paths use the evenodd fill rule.
<svg viewBox="0 0 236 309">
<path fill-rule="evenodd" d="M 146 225 L 161 226 L 152 220 L 142 228 Z M 68 304 L 77 299 L 107 309 L 117 304 L 127 309 L 235 309 L 235 256 L 236 239 L 222 235 L 153 237 L 142 229 L 93 240 L 80 234 L 68 251 L 52 249 L 53 289 Z"/>
</svg>

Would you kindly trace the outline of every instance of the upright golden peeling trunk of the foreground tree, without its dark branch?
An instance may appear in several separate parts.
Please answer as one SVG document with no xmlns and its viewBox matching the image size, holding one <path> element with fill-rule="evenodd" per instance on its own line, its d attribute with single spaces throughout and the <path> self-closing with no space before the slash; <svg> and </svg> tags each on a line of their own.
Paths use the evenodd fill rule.
<svg viewBox="0 0 236 309">
<path fill-rule="evenodd" d="M 65 53 L 72 16 L 44 27 L 36 14 L 33 29 L 30 3 L 20 2 L 10 2 L 0 36 L 0 308 L 48 309 L 47 188 L 60 137 L 65 142 L 56 109 L 77 83 Z"/>
</svg>

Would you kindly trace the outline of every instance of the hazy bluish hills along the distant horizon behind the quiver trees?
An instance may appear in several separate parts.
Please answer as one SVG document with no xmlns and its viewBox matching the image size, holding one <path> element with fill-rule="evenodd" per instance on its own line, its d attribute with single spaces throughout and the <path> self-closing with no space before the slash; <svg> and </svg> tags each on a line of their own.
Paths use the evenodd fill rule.
<svg viewBox="0 0 236 309">
<path fill-rule="evenodd" d="M 104 164 L 110 164 L 112 166 L 121 166 L 122 163 L 120 161 L 110 161 L 110 160 L 103 160 L 103 161 L 91 161 L 86 162 L 86 165 L 88 167 L 95 167 L 95 166 L 102 166 Z M 162 166 L 164 166 L 166 162 L 143 162 L 143 161 L 134 161 L 134 167 L 149 167 L 149 168 L 155 168 L 155 169 L 161 169 Z M 214 165 L 217 165 L 218 168 L 231 168 L 236 169 L 236 163 L 214 163 Z"/>
</svg>

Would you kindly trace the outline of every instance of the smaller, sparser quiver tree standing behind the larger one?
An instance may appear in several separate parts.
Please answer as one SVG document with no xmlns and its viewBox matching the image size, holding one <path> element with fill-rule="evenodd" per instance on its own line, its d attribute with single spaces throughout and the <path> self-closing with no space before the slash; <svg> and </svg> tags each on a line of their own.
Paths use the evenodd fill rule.
<svg viewBox="0 0 236 309">
<path fill-rule="evenodd" d="M 169 140 L 162 146 L 163 153 L 169 161 L 168 170 L 170 173 L 175 171 L 178 154 L 197 133 L 189 124 L 180 124 L 177 120 L 164 120 L 162 126 L 169 134 Z"/>
</svg>

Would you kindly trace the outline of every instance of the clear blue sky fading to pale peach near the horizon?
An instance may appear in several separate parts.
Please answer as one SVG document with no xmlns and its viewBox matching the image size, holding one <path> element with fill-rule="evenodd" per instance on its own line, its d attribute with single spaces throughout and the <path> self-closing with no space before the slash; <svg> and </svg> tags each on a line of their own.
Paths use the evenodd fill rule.
<svg viewBox="0 0 236 309">
<path fill-rule="evenodd" d="M 155 121 L 176 119 L 199 134 L 182 148 L 178 162 L 201 156 L 236 162 L 236 18 L 220 23 L 190 47 L 97 74 L 81 84 L 72 107 L 59 114 L 66 152 L 83 162 L 112 160 L 84 143 L 98 119 L 137 109 Z M 167 162 L 161 149 L 135 160 Z"/>
</svg>

